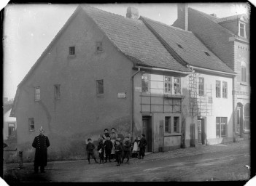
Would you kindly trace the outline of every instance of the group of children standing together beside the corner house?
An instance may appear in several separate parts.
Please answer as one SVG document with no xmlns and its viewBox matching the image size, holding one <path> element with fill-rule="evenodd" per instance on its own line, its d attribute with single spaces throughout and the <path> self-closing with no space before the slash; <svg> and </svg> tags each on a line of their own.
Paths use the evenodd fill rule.
<svg viewBox="0 0 256 186">
<path fill-rule="evenodd" d="M 142 159 L 144 158 L 145 147 L 147 145 L 147 140 L 144 138 L 145 134 L 142 134 L 141 138 L 137 137 L 134 140 L 133 144 L 131 144 L 130 138 L 128 136 L 125 137 L 125 140 L 123 140 L 123 142 L 121 142 L 120 138 L 118 138 L 117 134 L 115 133 L 115 128 L 112 128 L 111 131 L 112 134 L 109 134 L 109 130 L 104 129 L 104 134 L 102 134 L 101 138 L 99 139 L 97 150 L 100 158 L 100 164 L 106 163 L 107 160 L 111 162 L 111 159 L 114 157 L 115 161 L 117 162 L 117 166 L 120 166 L 125 158 L 127 158 L 127 161 L 125 163 L 129 163 L 130 155 L 133 158 L 138 158 L 138 156 L 139 159 L 141 158 L 141 156 Z M 93 150 L 95 148 L 95 145 L 93 145 L 92 140 L 89 138 L 88 145 L 86 146 L 88 163 L 90 163 L 90 156 L 94 159 L 96 163 L 98 163 L 93 153 Z"/>
</svg>

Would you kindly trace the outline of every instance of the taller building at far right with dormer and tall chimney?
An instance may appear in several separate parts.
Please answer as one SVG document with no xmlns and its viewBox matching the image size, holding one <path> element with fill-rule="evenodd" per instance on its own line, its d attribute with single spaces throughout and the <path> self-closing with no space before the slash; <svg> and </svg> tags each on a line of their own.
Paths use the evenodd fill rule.
<svg viewBox="0 0 256 186">
<path fill-rule="evenodd" d="M 203 44 L 237 73 L 233 81 L 233 131 L 249 137 L 249 20 L 247 15 L 218 18 L 178 5 L 176 27 L 192 31 Z"/>
</svg>

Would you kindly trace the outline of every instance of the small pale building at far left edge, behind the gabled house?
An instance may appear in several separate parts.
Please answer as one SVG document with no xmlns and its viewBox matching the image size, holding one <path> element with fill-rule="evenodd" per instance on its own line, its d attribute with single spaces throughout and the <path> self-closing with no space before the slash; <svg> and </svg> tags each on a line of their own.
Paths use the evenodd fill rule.
<svg viewBox="0 0 256 186">
<path fill-rule="evenodd" d="M 11 109 L 4 113 L 4 127 L 3 127 L 3 137 L 7 140 L 11 136 L 12 132 L 17 128 L 16 118 L 10 117 Z"/>
</svg>

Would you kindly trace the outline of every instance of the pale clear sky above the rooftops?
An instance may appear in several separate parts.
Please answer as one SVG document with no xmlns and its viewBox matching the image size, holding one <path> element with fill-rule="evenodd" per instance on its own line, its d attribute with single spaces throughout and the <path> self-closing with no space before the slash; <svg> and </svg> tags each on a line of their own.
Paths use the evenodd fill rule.
<svg viewBox="0 0 256 186">
<path fill-rule="evenodd" d="M 90 4 L 106 12 L 126 16 L 128 7 L 136 7 L 139 15 L 167 25 L 177 20 L 177 4 Z M 53 41 L 76 9 L 77 4 L 8 4 L 4 8 L 4 92 L 15 97 L 18 84 L 26 76 L 44 49 Z M 246 13 L 249 6 L 238 3 L 188 4 L 217 17 Z"/>
</svg>

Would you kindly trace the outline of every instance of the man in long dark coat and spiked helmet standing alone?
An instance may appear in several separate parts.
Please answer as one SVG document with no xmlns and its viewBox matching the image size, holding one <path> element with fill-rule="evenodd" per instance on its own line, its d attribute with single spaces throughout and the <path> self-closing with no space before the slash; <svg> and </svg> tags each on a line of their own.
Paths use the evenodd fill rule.
<svg viewBox="0 0 256 186">
<path fill-rule="evenodd" d="M 40 171 L 44 171 L 44 166 L 47 166 L 47 147 L 50 146 L 50 142 L 47 136 L 44 136 L 44 130 L 39 129 L 39 135 L 34 138 L 32 147 L 36 148 L 35 159 L 34 159 L 34 171 L 38 172 L 40 166 Z"/>
</svg>

